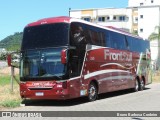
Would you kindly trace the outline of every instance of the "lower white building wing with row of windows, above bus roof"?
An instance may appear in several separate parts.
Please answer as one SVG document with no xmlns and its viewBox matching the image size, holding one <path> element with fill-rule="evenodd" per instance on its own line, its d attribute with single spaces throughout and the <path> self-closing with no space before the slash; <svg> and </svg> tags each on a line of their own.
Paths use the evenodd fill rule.
<svg viewBox="0 0 160 120">
<path fill-rule="evenodd" d="M 126 8 L 102 8 L 71 10 L 70 16 L 94 22 L 103 26 L 113 26 L 130 31 L 132 26 L 132 10 Z"/>
</svg>

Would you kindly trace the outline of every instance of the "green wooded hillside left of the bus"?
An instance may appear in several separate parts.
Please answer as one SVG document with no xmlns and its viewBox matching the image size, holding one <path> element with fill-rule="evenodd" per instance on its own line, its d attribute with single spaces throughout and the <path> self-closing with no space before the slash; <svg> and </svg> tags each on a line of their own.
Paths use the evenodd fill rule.
<svg viewBox="0 0 160 120">
<path fill-rule="evenodd" d="M 0 48 L 6 48 L 9 51 L 20 50 L 23 32 L 16 32 L 0 41 Z"/>
</svg>

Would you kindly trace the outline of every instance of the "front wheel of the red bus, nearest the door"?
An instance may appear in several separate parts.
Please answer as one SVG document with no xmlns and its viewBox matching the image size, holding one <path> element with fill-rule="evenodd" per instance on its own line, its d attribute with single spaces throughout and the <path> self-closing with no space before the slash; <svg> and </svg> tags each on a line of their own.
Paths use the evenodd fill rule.
<svg viewBox="0 0 160 120">
<path fill-rule="evenodd" d="M 98 90 L 96 85 L 91 82 L 88 89 L 88 100 L 89 101 L 95 101 L 98 95 Z"/>
</svg>

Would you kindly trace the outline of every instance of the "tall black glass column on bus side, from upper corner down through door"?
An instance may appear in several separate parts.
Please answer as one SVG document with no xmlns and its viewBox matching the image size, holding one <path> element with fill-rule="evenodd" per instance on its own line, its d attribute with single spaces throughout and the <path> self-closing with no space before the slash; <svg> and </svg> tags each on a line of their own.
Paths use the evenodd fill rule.
<svg viewBox="0 0 160 120">
<path fill-rule="evenodd" d="M 69 61 L 70 61 L 70 77 L 79 76 L 82 70 L 84 61 L 85 48 L 88 43 L 88 36 L 84 24 L 71 23 L 70 28 L 70 45 L 75 46 L 76 49 L 69 50 Z"/>
</svg>

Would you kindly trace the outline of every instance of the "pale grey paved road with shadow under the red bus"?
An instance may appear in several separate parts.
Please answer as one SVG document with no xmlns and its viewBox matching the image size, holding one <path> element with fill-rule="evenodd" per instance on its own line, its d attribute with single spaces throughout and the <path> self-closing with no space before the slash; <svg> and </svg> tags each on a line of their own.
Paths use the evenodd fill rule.
<svg viewBox="0 0 160 120">
<path fill-rule="evenodd" d="M 28 101 L 26 106 L 11 110 L 13 111 L 160 111 L 160 83 L 150 84 L 146 86 L 145 90 L 139 92 L 124 90 L 124 91 L 102 94 L 99 95 L 99 99 L 94 102 L 87 102 L 85 98 L 78 98 L 67 101 L 53 101 L 53 100 Z M 62 119 L 62 117 L 56 119 Z M 72 120 L 74 118 L 72 117 L 70 119 Z M 98 119 L 110 119 L 110 118 L 100 117 Z M 112 119 L 159 120 L 160 118 L 116 117 Z"/>
</svg>

